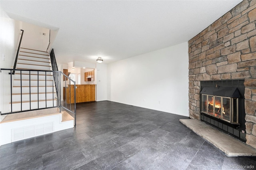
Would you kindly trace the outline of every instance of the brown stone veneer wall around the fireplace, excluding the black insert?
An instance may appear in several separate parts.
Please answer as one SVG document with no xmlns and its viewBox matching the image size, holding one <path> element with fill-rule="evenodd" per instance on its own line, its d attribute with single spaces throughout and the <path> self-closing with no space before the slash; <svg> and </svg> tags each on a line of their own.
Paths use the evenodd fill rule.
<svg viewBox="0 0 256 170">
<path fill-rule="evenodd" d="M 188 44 L 190 118 L 200 120 L 200 81 L 244 79 L 246 143 L 256 148 L 256 0 L 243 0 Z"/>
</svg>

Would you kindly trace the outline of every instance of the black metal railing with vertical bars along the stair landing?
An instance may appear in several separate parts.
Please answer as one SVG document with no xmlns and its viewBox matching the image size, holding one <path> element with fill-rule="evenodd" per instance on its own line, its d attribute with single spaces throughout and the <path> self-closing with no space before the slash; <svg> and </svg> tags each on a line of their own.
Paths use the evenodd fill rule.
<svg viewBox="0 0 256 170">
<path fill-rule="evenodd" d="M 66 86 L 66 79 L 68 79 L 69 84 L 74 83 L 74 87 L 76 87 L 76 82 L 73 81 L 72 79 L 70 79 L 70 77 L 66 76 L 63 72 L 61 71 L 46 71 L 46 70 L 28 70 L 28 69 L 0 69 L 0 73 L 2 73 L 2 71 L 8 71 L 9 73 L 7 75 L 10 76 L 10 112 L 6 112 L 6 113 L 2 113 L 2 111 L 0 111 L 1 115 L 8 115 L 8 114 L 12 114 L 12 113 L 20 113 L 20 112 L 25 112 L 25 111 L 34 111 L 34 110 L 40 110 L 40 109 L 48 109 L 48 108 L 54 108 L 54 107 L 59 107 L 60 112 L 61 109 L 66 109 L 67 111 L 69 111 L 70 113 L 74 114 L 74 119 L 75 119 L 75 125 L 76 126 L 76 88 L 74 88 L 74 99 L 72 101 L 74 101 L 74 104 L 70 102 L 69 106 L 66 105 L 62 105 L 61 103 L 61 93 L 60 93 L 60 89 L 61 89 L 61 77 L 62 75 L 65 78 L 65 86 Z M 16 71 L 16 74 L 20 74 L 20 85 L 19 86 L 14 86 L 14 75 L 12 75 L 12 71 Z M 22 79 L 22 74 L 23 75 L 28 75 L 29 79 Z M 55 76 L 54 79 L 48 80 L 46 77 L 47 76 Z M 31 76 L 35 76 L 37 77 L 37 79 L 31 79 Z M 44 80 L 39 80 L 39 76 L 44 76 L 45 79 Z M 6 78 L 7 80 L 7 78 Z M 29 81 L 29 83 L 27 85 L 22 85 L 23 81 Z M 37 81 L 36 85 L 31 85 L 32 81 Z M 44 85 L 40 85 L 39 81 L 44 81 Z M 47 85 L 47 81 L 51 81 L 51 85 Z M 72 82 L 72 83 L 71 83 Z M 4 82 L 3 82 L 4 83 Z M 56 88 L 56 95 L 54 95 L 54 86 L 58 87 Z M 20 109 L 16 109 L 16 111 L 13 110 L 13 105 L 16 104 L 16 101 L 13 101 L 13 88 L 18 88 L 20 87 L 19 94 L 20 94 Z M 36 88 L 35 92 L 31 91 L 31 88 Z M 47 87 L 52 87 L 52 90 L 47 90 Z M 29 88 L 29 92 L 23 93 L 22 91 L 24 91 L 24 88 Z M 40 88 L 44 88 L 44 92 L 40 92 Z M 70 96 L 71 96 L 71 86 L 69 86 L 69 92 L 70 92 Z M 52 93 L 52 99 L 47 99 L 47 94 L 48 93 Z M 73 92 L 72 92 L 73 93 Z M 37 99 L 36 100 L 32 100 L 31 95 L 37 95 Z M 45 99 L 40 99 L 39 95 L 45 95 Z M 28 101 L 24 101 L 24 95 L 29 95 L 29 100 Z M 2 96 L 1 96 L 2 97 Z M 71 98 L 70 98 L 71 99 Z M 4 98 L 5 101 L 8 101 L 8 97 Z M 52 100 L 52 106 L 47 106 L 47 101 L 48 100 Z M 56 106 L 54 106 L 54 101 L 57 100 L 58 104 Z M 9 102 L 8 101 L 8 102 Z M 40 101 L 45 101 L 45 107 L 40 107 Z M 36 108 L 32 108 L 32 102 L 37 102 L 37 107 Z M 24 109 L 23 108 L 23 103 L 29 103 L 29 109 Z M 33 105 L 34 106 L 34 105 Z"/>
</svg>

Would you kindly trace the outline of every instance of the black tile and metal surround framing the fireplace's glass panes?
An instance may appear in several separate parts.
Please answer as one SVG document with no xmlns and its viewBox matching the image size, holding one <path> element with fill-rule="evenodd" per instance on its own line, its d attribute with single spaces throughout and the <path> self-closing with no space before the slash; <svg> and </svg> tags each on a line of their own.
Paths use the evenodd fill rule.
<svg viewBox="0 0 256 170">
<path fill-rule="evenodd" d="M 246 142 L 246 127 L 245 127 L 245 107 L 244 107 L 244 80 L 220 80 L 220 81 L 201 81 L 200 82 L 200 120 L 222 130 L 225 133 L 234 136 L 243 142 Z M 202 94 L 207 93 L 207 94 Z M 236 105 L 236 109 L 230 108 L 230 120 L 224 120 L 220 117 L 211 115 L 202 111 L 202 97 L 220 97 L 221 102 L 223 97 L 230 99 L 231 108 Z M 234 104 L 234 101 L 236 102 Z M 215 101 L 215 100 L 214 100 Z M 222 105 L 223 103 L 221 103 Z M 233 104 L 233 105 L 232 105 Z M 208 105 L 208 104 L 207 104 Z M 238 108 L 239 106 L 239 108 Z M 225 110 L 225 109 L 224 109 Z M 236 111 L 234 111 L 236 110 Z M 208 111 L 208 107 L 207 107 Z M 233 111 L 233 112 L 232 112 Z M 236 112 L 236 113 L 234 113 Z M 220 112 L 222 113 L 222 111 Z M 237 120 L 234 120 L 234 114 Z M 222 117 L 222 116 L 221 116 Z"/>
</svg>

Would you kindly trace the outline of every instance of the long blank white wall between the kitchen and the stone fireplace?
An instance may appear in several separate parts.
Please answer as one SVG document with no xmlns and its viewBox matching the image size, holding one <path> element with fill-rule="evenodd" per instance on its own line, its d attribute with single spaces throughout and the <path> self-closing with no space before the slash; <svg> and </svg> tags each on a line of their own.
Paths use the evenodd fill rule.
<svg viewBox="0 0 256 170">
<path fill-rule="evenodd" d="M 107 72 L 109 101 L 189 115 L 188 42 L 110 63 Z"/>
</svg>

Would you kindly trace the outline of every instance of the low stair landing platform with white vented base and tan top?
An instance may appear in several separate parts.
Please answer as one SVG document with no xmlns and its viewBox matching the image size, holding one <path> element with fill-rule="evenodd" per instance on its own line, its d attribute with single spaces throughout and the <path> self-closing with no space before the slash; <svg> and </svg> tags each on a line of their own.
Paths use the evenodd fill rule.
<svg viewBox="0 0 256 170">
<path fill-rule="evenodd" d="M 74 127 L 74 118 L 66 111 L 60 113 L 57 107 L 4 116 L 0 145 Z"/>
</svg>

